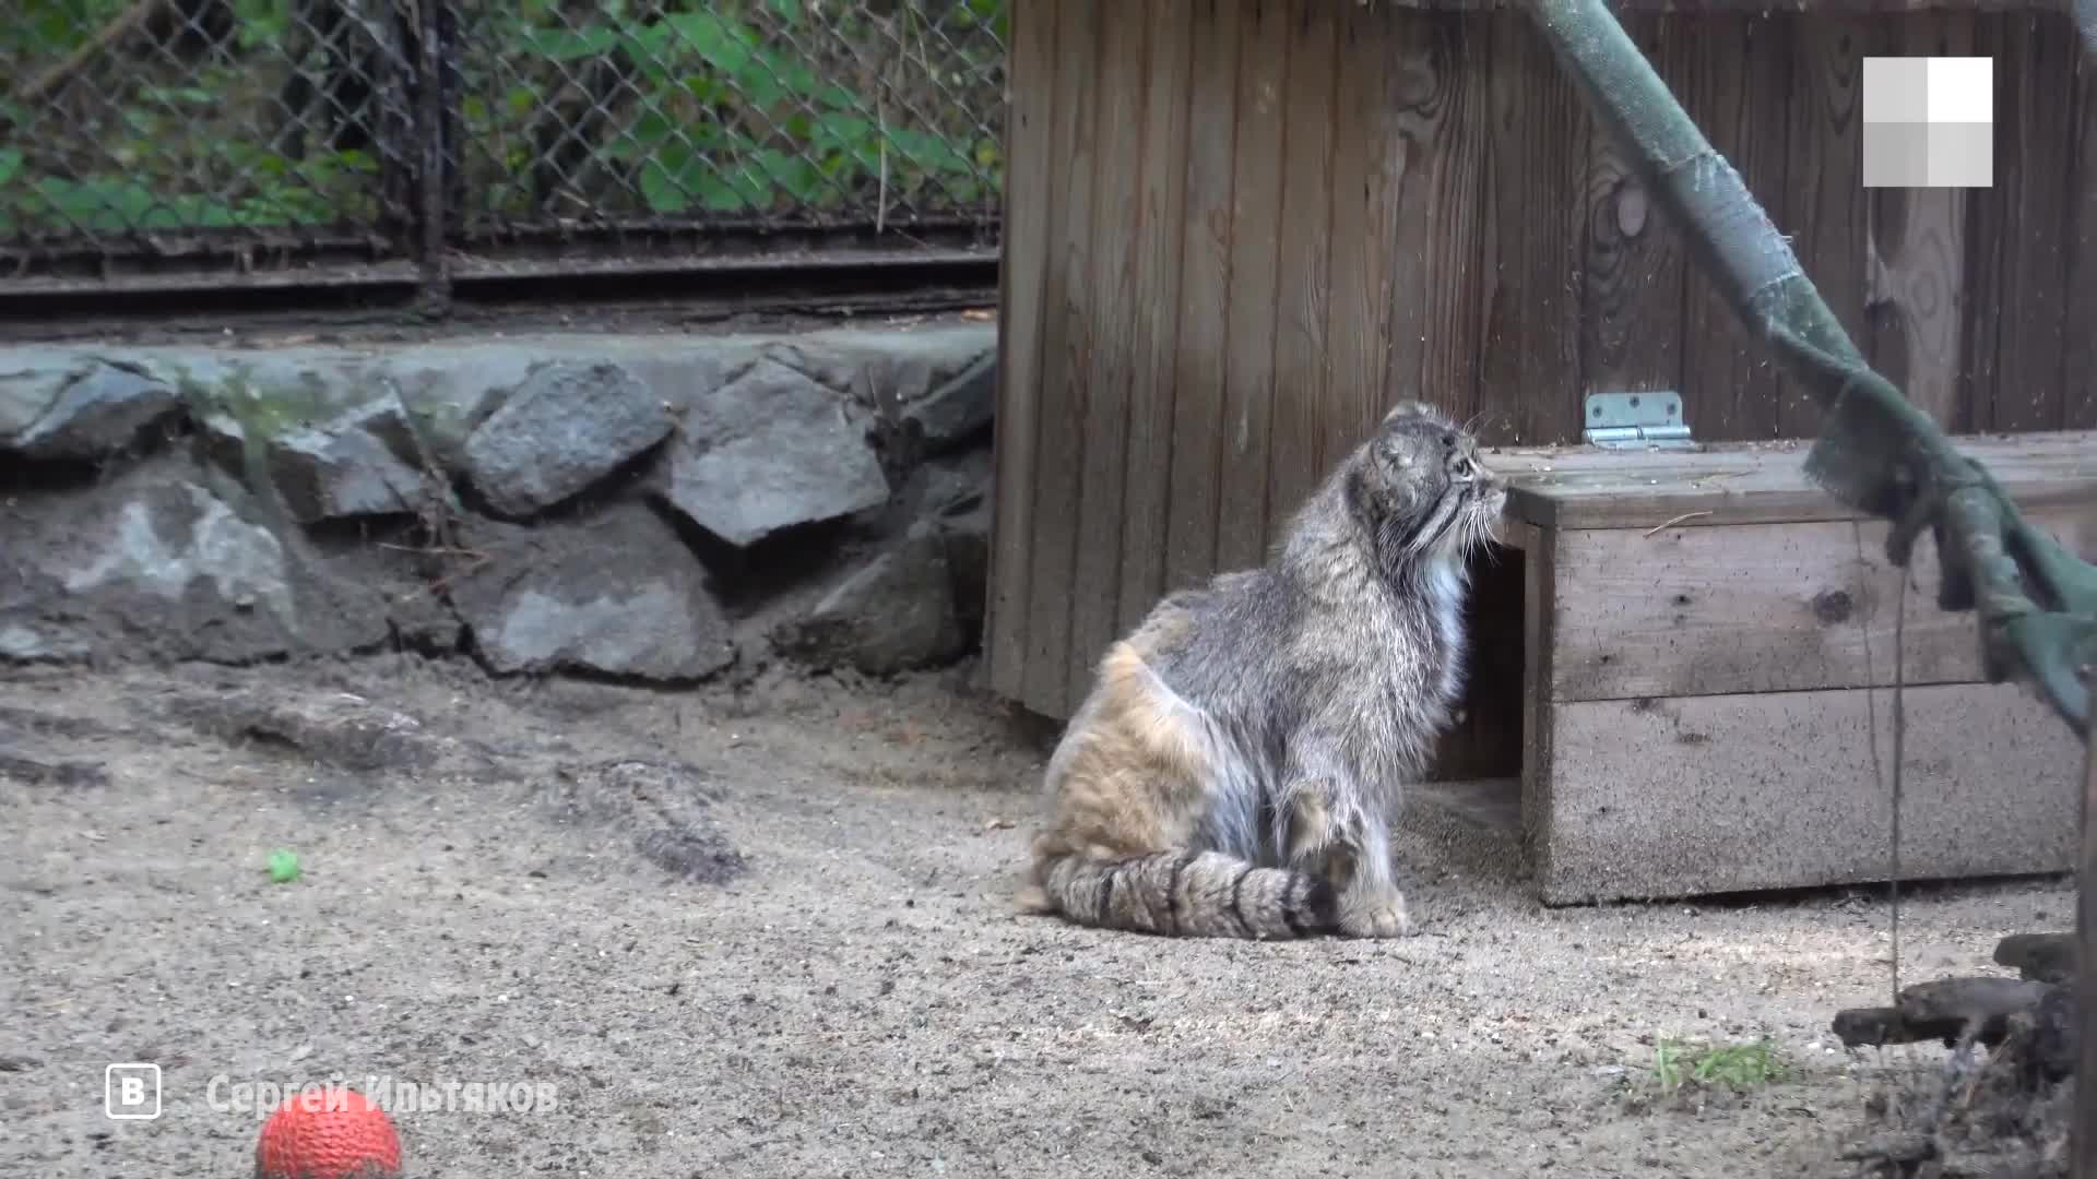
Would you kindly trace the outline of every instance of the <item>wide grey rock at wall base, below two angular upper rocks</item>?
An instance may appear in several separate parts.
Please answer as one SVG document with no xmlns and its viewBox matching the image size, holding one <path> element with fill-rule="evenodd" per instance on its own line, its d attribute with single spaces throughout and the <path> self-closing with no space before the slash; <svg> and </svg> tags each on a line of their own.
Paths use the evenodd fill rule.
<svg viewBox="0 0 2097 1179">
<path fill-rule="evenodd" d="M 698 680 L 734 661 L 705 566 L 646 506 L 478 533 L 470 543 L 491 560 L 451 602 L 489 669 Z"/>
</svg>

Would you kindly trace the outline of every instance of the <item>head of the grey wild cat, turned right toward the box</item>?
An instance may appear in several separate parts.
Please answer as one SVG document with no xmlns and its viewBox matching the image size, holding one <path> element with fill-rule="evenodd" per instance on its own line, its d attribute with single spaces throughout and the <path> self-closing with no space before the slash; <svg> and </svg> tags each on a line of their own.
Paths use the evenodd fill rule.
<svg viewBox="0 0 2097 1179">
<path fill-rule="evenodd" d="M 1432 405 L 1397 405 L 1361 457 L 1361 493 L 1388 541 L 1418 556 L 1491 541 L 1508 487 L 1480 462 L 1478 441 Z"/>
</svg>

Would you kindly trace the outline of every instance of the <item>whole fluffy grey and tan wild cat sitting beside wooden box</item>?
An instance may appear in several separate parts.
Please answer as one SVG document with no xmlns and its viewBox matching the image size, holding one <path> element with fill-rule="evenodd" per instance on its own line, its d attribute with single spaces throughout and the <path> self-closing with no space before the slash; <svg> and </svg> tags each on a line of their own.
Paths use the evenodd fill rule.
<svg viewBox="0 0 2097 1179">
<path fill-rule="evenodd" d="M 1464 560 L 1504 499 L 1466 430 L 1405 403 L 1264 566 L 1158 602 L 1048 759 L 1021 904 L 1147 934 L 1409 934 L 1390 822 L 1462 690 Z"/>
</svg>

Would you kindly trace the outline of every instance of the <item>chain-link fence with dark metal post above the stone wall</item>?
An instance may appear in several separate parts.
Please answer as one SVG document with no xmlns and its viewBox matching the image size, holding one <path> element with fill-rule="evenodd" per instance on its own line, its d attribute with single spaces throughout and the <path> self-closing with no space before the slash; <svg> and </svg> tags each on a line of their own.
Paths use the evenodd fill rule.
<svg viewBox="0 0 2097 1179">
<path fill-rule="evenodd" d="M 981 245 L 1004 4 L 17 0 L 0 294 Z"/>
</svg>

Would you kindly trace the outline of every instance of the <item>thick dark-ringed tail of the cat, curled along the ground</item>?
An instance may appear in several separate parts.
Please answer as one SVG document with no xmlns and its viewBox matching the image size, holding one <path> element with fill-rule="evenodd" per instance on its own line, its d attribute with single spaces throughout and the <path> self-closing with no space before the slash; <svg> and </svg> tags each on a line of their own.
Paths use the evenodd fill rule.
<svg viewBox="0 0 2097 1179">
<path fill-rule="evenodd" d="M 1340 929 L 1332 883 L 1223 852 L 1048 856 L 1036 862 L 1034 881 L 1038 908 L 1097 929 L 1254 940 Z"/>
</svg>

